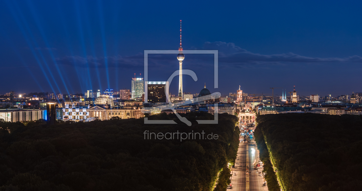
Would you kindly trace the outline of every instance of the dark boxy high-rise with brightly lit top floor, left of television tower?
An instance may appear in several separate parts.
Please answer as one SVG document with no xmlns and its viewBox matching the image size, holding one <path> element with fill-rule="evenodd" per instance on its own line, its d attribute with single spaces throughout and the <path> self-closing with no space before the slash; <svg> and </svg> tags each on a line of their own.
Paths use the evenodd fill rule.
<svg viewBox="0 0 362 191">
<path fill-rule="evenodd" d="M 168 82 L 147 82 L 147 102 L 166 103 L 165 90 L 167 85 Z"/>
</svg>

